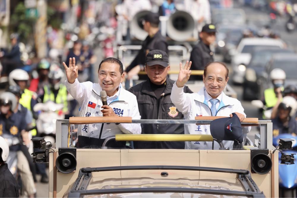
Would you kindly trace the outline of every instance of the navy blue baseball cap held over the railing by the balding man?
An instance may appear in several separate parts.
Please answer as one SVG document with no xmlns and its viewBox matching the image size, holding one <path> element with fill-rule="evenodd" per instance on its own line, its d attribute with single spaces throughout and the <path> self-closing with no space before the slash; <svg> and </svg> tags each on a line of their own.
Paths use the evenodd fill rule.
<svg viewBox="0 0 297 198">
<path fill-rule="evenodd" d="M 235 145 L 243 142 L 243 132 L 241 122 L 236 113 L 233 117 L 218 118 L 210 123 L 210 133 L 218 140 L 231 140 Z"/>
</svg>

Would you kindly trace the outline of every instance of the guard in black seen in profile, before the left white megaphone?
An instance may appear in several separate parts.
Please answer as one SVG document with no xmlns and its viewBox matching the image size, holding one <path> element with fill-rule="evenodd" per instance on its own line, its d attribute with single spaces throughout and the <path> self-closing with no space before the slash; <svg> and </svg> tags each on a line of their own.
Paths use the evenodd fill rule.
<svg viewBox="0 0 297 198">
<path fill-rule="evenodd" d="M 144 16 L 142 21 L 143 29 L 149 33 L 149 36 L 143 41 L 141 50 L 126 69 L 125 75 L 127 75 L 128 79 L 144 70 L 145 58 L 149 51 L 163 50 L 168 53 L 168 43 L 159 31 L 159 22 L 159 14 L 157 13 L 149 12 Z M 146 75 L 140 75 L 139 79 L 146 80 L 147 77 Z"/>
</svg>

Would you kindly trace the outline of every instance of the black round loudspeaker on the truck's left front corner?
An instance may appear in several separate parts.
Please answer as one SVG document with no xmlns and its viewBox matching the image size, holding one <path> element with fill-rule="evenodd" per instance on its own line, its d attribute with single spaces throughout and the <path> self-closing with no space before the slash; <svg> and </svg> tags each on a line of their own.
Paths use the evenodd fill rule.
<svg viewBox="0 0 297 198">
<path fill-rule="evenodd" d="M 62 173 L 70 173 L 76 170 L 76 148 L 59 148 L 56 167 Z"/>
</svg>

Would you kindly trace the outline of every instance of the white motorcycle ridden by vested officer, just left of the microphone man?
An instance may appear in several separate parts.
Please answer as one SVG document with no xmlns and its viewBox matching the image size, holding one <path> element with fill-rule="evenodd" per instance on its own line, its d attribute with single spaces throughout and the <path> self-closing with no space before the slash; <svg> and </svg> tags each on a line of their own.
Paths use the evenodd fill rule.
<svg viewBox="0 0 297 198">
<path fill-rule="evenodd" d="M 56 104 L 53 101 L 37 103 L 33 107 L 33 110 L 39 113 L 36 121 L 38 134 L 51 145 L 56 142 L 56 121 L 65 118 L 63 108 L 63 104 Z"/>
</svg>

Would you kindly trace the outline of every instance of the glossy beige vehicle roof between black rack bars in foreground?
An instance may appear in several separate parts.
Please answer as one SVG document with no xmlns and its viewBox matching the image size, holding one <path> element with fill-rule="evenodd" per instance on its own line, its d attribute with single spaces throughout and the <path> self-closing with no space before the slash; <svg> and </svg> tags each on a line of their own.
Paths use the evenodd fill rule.
<svg viewBox="0 0 297 198">
<path fill-rule="evenodd" d="M 156 171 L 155 171 L 156 172 Z M 160 171 L 159 171 L 160 172 Z M 199 175 L 174 175 L 170 174 L 164 178 L 160 174 L 146 175 L 108 175 L 103 177 L 93 177 L 86 190 L 95 189 L 126 189 L 126 188 L 199 188 L 215 189 L 228 191 L 245 191 L 238 178 L 225 178 L 214 176 Z M 105 197 L 102 194 L 99 197 Z M 110 197 L 230 197 L 215 194 L 197 193 L 115 193 L 109 194 Z M 85 195 L 83 197 L 98 197 L 98 194 Z"/>
</svg>

